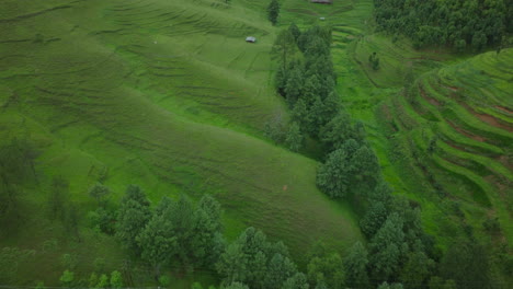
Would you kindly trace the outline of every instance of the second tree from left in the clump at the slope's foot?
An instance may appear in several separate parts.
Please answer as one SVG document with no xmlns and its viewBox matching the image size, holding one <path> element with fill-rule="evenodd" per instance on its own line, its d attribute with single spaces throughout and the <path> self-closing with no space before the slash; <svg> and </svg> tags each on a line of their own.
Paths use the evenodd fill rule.
<svg viewBox="0 0 513 289">
<path fill-rule="evenodd" d="M 169 263 L 178 250 L 178 236 L 173 232 L 171 218 L 173 205 L 168 197 L 162 198 L 152 218 L 136 236 L 141 258 L 153 267 L 156 280 L 160 277 L 160 268 Z"/>
</svg>

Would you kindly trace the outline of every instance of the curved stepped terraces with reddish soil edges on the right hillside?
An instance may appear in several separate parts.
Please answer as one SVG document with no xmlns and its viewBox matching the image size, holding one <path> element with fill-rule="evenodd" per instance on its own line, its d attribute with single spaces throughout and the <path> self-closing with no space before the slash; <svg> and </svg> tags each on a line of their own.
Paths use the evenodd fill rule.
<svg viewBox="0 0 513 289">
<path fill-rule="evenodd" d="M 512 227 L 513 118 L 508 76 L 513 49 L 486 53 L 424 73 L 385 109 L 431 185 L 466 204 L 476 228 L 499 218 L 508 242 Z"/>
</svg>

